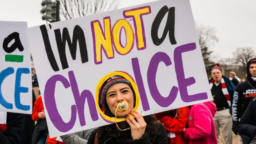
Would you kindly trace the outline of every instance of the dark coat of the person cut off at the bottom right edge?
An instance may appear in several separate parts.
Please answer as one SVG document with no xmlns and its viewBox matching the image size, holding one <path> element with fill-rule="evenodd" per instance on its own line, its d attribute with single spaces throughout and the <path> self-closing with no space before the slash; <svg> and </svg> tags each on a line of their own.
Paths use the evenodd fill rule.
<svg viewBox="0 0 256 144">
<path fill-rule="evenodd" d="M 253 98 L 239 121 L 238 131 L 250 137 L 255 136 L 256 131 L 256 98 Z"/>
</svg>

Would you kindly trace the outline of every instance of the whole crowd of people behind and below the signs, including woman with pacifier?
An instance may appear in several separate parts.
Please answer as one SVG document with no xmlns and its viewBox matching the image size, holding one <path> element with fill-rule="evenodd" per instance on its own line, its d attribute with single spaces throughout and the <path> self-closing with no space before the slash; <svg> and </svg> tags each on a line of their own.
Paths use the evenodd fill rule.
<svg viewBox="0 0 256 144">
<path fill-rule="evenodd" d="M 33 112 L 31 115 L 0 112 L 0 143 L 220 144 L 220 129 L 225 144 L 233 142 L 232 131 L 241 136 L 244 144 L 256 143 L 256 59 L 248 61 L 245 81 L 234 71 L 230 72 L 230 78 L 225 77 L 220 65 L 215 64 L 209 80 L 212 101 L 148 116 L 133 110 L 137 96 L 130 81 L 112 76 L 99 89 L 99 106 L 106 116 L 124 117 L 125 121 L 55 138 L 49 137 L 35 70 L 33 74 Z M 116 110 L 121 102 L 126 102 L 128 110 Z"/>
</svg>

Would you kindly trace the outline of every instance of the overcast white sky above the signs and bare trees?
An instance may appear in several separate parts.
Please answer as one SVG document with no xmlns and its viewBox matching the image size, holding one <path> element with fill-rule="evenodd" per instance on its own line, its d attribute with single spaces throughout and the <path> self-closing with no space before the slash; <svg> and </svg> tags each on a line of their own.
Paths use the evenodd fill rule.
<svg viewBox="0 0 256 144">
<path fill-rule="evenodd" d="M 53 1 L 53 0 L 52 0 Z M 123 0 L 119 8 L 153 2 L 155 0 Z M 1 0 L 0 20 L 26 21 L 28 27 L 45 24 L 41 19 L 41 0 Z M 237 47 L 256 50 L 255 0 L 190 0 L 197 24 L 217 30 L 219 42 L 211 49 L 215 62 L 232 57 Z"/>
</svg>

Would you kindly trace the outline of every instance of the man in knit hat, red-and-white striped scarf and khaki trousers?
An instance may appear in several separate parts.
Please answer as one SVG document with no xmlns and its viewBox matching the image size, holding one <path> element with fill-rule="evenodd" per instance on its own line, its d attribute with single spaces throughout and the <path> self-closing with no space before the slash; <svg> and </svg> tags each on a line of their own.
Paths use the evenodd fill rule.
<svg viewBox="0 0 256 144">
<path fill-rule="evenodd" d="M 218 144 L 220 144 L 220 128 L 224 137 L 224 143 L 232 143 L 232 116 L 231 116 L 231 100 L 234 94 L 234 84 L 225 76 L 219 64 L 215 64 L 211 69 L 211 77 L 209 80 L 213 102 L 216 104 L 217 112 L 214 116 L 214 125 Z"/>
</svg>

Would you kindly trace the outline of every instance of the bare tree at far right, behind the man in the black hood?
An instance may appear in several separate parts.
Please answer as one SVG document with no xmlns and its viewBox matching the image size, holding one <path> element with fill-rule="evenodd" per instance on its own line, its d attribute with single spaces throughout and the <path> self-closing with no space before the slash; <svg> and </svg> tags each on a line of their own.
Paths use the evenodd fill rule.
<svg viewBox="0 0 256 144">
<path fill-rule="evenodd" d="M 235 52 L 233 52 L 234 61 L 240 65 L 241 70 L 246 74 L 246 66 L 248 60 L 255 57 L 255 51 L 252 47 L 241 47 L 237 48 Z"/>
</svg>

